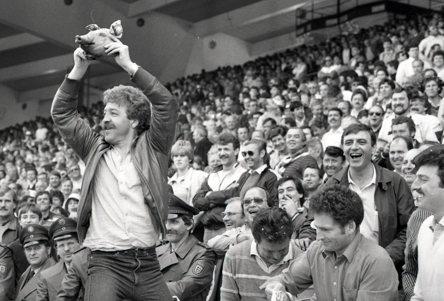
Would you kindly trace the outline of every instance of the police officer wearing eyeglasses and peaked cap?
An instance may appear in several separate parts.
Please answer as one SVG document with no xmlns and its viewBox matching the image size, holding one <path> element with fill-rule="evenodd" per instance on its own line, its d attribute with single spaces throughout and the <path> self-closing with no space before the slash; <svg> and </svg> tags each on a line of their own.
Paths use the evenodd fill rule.
<svg viewBox="0 0 444 301">
<path fill-rule="evenodd" d="M 80 247 L 76 228 L 77 222 L 68 217 L 59 218 L 49 228 L 49 235 L 54 241 L 60 261 L 41 273 L 36 301 L 55 301 L 57 299 L 63 277 L 71 264 L 72 255 Z M 82 300 L 82 296 L 78 300 Z"/>
</svg>

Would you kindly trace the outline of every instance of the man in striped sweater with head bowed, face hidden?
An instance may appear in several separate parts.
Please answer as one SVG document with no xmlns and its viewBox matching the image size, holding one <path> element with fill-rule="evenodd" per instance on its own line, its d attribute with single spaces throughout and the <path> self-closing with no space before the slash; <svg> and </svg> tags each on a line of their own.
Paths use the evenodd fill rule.
<svg viewBox="0 0 444 301">
<path fill-rule="evenodd" d="M 225 255 L 221 300 L 267 300 L 259 288 L 264 279 L 279 275 L 303 253 L 290 241 L 293 231 L 285 211 L 259 212 L 252 224 L 254 240 L 231 247 Z"/>
</svg>

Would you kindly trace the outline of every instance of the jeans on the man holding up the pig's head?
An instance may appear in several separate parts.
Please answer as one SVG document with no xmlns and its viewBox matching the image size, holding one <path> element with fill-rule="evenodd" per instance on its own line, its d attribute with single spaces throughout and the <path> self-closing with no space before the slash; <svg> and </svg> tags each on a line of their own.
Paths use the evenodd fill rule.
<svg viewBox="0 0 444 301">
<path fill-rule="evenodd" d="M 171 301 L 155 247 L 125 251 L 91 251 L 85 301 Z"/>
</svg>

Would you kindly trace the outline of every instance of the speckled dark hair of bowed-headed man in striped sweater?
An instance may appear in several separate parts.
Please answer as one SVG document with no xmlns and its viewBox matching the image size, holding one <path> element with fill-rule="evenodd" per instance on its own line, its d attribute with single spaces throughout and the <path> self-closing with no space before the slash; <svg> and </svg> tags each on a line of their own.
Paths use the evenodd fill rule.
<svg viewBox="0 0 444 301">
<path fill-rule="evenodd" d="M 280 208 L 266 208 L 258 212 L 251 225 L 256 243 L 265 239 L 270 243 L 283 243 L 291 239 L 294 226 L 287 212 Z"/>
</svg>

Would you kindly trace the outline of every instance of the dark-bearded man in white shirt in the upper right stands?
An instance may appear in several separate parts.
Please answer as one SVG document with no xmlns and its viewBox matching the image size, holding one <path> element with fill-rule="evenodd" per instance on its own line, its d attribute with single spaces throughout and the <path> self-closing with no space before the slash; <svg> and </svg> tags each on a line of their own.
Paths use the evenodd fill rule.
<svg viewBox="0 0 444 301">
<path fill-rule="evenodd" d="M 407 116 L 412 118 L 416 125 L 416 133 L 414 139 L 418 143 L 425 140 L 438 141 L 436 132 L 441 131 L 440 124 L 430 123 L 429 120 L 420 114 L 416 114 L 410 110 L 411 94 L 402 88 L 397 88 L 392 95 L 393 113 L 382 122 L 381 130 L 378 135 L 378 147 L 384 147 L 385 144 L 392 141 L 393 135 L 390 131 L 392 120 L 398 116 Z M 438 141 L 439 142 L 439 141 Z"/>
</svg>

